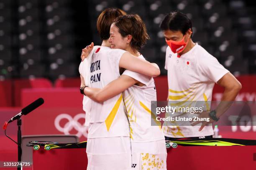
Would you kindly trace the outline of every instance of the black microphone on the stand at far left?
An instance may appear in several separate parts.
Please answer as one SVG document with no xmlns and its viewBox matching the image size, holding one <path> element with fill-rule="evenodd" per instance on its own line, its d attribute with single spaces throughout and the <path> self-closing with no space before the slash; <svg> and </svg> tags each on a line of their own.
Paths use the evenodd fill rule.
<svg viewBox="0 0 256 170">
<path fill-rule="evenodd" d="M 39 98 L 36 101 L 32 102 L 30 105 L 24 107 L 21 112 L 17 115 L 15 115 L 14 117 L 12 117 L 8 123 L 12 122 L 13 120 L 17 120 L 19 119 L 22 115 L 27 115 L 28 113 L 32 112 L 33 110 L 35 110 L 37 107 L 41 106 L 44 103 L 44 99 L 43 98 Z"/>
</svg>

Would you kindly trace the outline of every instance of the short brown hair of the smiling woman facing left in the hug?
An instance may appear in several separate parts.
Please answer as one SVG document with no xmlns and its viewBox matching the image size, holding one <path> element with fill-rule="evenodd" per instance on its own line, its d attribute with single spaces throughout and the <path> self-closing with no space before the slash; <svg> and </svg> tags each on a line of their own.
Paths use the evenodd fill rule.
<svg viewBox="0 0 256 170">
<path fill-rule="evenodd" d="M 146 25 L 141 17 L 135 15 L 124 15 L 115 19 L 115 26 L 119 29 L 122 37 L 132 35 L 131 47 L 133 51 L 139 51 L 149 40 Z"/>
</svg>

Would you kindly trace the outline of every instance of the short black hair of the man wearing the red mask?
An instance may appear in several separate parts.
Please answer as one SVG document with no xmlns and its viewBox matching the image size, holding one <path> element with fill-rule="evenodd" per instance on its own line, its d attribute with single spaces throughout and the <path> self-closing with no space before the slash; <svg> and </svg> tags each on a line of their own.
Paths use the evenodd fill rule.
<svg viewBox="0 0 256 170">
<path fill-rule="evenodd" d="M 182 34 L 185 35 L 189 28 L 192 30 L 192 23 L 187 15 L 179 11 L 174 11 L 165 15 L 164 20 L 160 24 L 160 28 L 163 31 L 181 31 Z"/>
</svg>

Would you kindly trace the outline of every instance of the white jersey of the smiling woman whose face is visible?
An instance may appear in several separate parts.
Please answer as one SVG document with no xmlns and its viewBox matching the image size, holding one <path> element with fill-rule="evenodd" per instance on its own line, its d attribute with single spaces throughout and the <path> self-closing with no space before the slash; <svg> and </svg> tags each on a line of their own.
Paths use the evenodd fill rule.
<svg viewBox="0 0 256 170">
<path fill-rule="evenodd" d="M 141 55 L 141 59 L 145 58 Z M 151 126 L 151 101 L 156 101 L 154 79 L 137 72 L 125 70 L 128 75 L 143 83 L 140 87 L 133 85 L 123 92 L 125 107 L 130 122 L 131 142 L 151 142 L 164 139 L 160 126 Z"/>
</svg>

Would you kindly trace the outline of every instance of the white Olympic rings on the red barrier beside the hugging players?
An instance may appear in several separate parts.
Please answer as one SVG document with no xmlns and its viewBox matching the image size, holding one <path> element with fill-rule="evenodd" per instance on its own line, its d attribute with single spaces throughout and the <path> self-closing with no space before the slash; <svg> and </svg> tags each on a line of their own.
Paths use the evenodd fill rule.
<svg viewBox="0 0 256 170">
<path fill-rule="evenodd" d="M 65 135 L 70 135 L 70 131 L 74 128 L 77 130 L 77 135 L 79 138 L 84 135 L 85 138 L 87 138 L 88 135 L 88 127 L 81 125 L 81 123 L 78 122 L 79 119 L 84 119 L 85 120 L 85 114 L 84 113 L 79 113 L 78 115 L 75 115 L 74 118 L 72 118 L 70 115 L 63 113 L 58 115 L 55 120 L 54 120 L 54 125 L 57 130 L 60 132 L 63 132 Z M 64 127 L 60 126 L 60 121 L 62 119 L 67 119 L 68 122 L 64 125 Z"/>
</svg>

